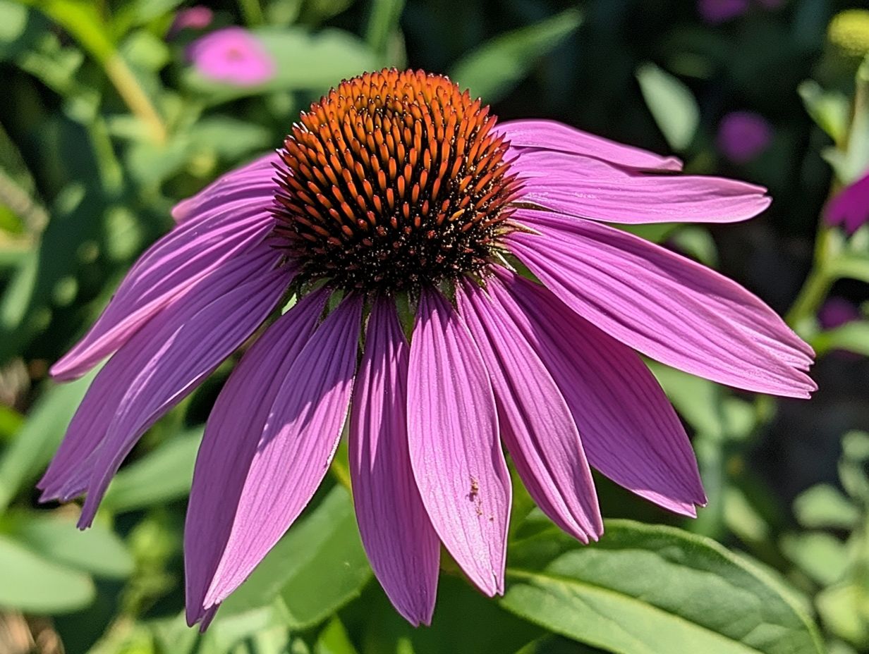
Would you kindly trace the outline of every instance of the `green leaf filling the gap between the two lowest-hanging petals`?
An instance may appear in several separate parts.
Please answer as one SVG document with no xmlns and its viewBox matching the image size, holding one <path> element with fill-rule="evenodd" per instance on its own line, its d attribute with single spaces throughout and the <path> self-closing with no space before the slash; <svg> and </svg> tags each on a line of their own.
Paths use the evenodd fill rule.
<svg viewBox="0 0 869 654">
<path fill-rule="evenodd" d="M 370 577 L 353 505 L 344 487 L 335 486 L 223 603 L 217 620 L 277 600 L 286 623 L 303 629 L 358 596 Z"/>
</svg>

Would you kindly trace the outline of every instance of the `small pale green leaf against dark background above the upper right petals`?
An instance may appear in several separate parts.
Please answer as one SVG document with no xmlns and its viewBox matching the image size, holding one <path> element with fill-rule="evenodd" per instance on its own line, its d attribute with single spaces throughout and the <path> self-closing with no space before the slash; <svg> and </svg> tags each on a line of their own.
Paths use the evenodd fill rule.
<svg viewBox="0 0 869 654">
<path fill-rule="evenodd" d="M 687 149 L 700 124 L 700 109 L 691 90 L 653 63 L 642 64 L 636 75 L 646 105 L 667 143 L 677 151 Z"/>
</svg>

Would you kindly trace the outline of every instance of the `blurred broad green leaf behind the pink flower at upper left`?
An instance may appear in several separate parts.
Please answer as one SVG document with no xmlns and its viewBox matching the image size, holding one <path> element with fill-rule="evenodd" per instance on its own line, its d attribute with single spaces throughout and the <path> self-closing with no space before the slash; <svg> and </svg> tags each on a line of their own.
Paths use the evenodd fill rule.
<svg viewBox="0 0 869 654">
<path fill-rule="evenodd" d="M 324 90 L 345 77 L 372 69 L 375 56 L 360 39 L 342 30 L 311 34 L 302 28 L 262 27 L 252 30 L 275 60 L 275 76 L 256 86 L 238 87 L 203 77 L 195 67 L 185 71 L 190 89 L 209 102 L 227 102 L 276 90 Z"/>
</svg>

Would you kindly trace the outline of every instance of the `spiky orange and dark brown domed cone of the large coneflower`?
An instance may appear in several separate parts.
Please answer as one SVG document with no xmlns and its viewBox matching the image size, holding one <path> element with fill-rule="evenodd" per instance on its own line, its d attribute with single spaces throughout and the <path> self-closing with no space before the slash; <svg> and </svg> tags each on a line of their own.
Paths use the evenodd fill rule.
<svg viewBox="0 0 869 654">
<path fill-rule="evenodd" d="M 445 76 L 342 82 L 284 141 L 275 235 L 303 282 L 418 291 L 480 273 L 519 184 L 479 99 Z"/>
</svg>

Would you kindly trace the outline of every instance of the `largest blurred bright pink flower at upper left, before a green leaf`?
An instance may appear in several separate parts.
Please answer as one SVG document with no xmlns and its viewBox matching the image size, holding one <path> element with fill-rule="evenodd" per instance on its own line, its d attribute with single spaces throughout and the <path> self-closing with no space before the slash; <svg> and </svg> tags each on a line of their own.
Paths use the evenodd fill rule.
<svg viewBox="0 0 869 654">
<path fill-rule="evenodd" d="M 202 76 L 235 86 L 255 86 L 275 76 L 275 62 L 248 30 L 227 27 L 190 43 L 188 56 Z"/>
</svg>

